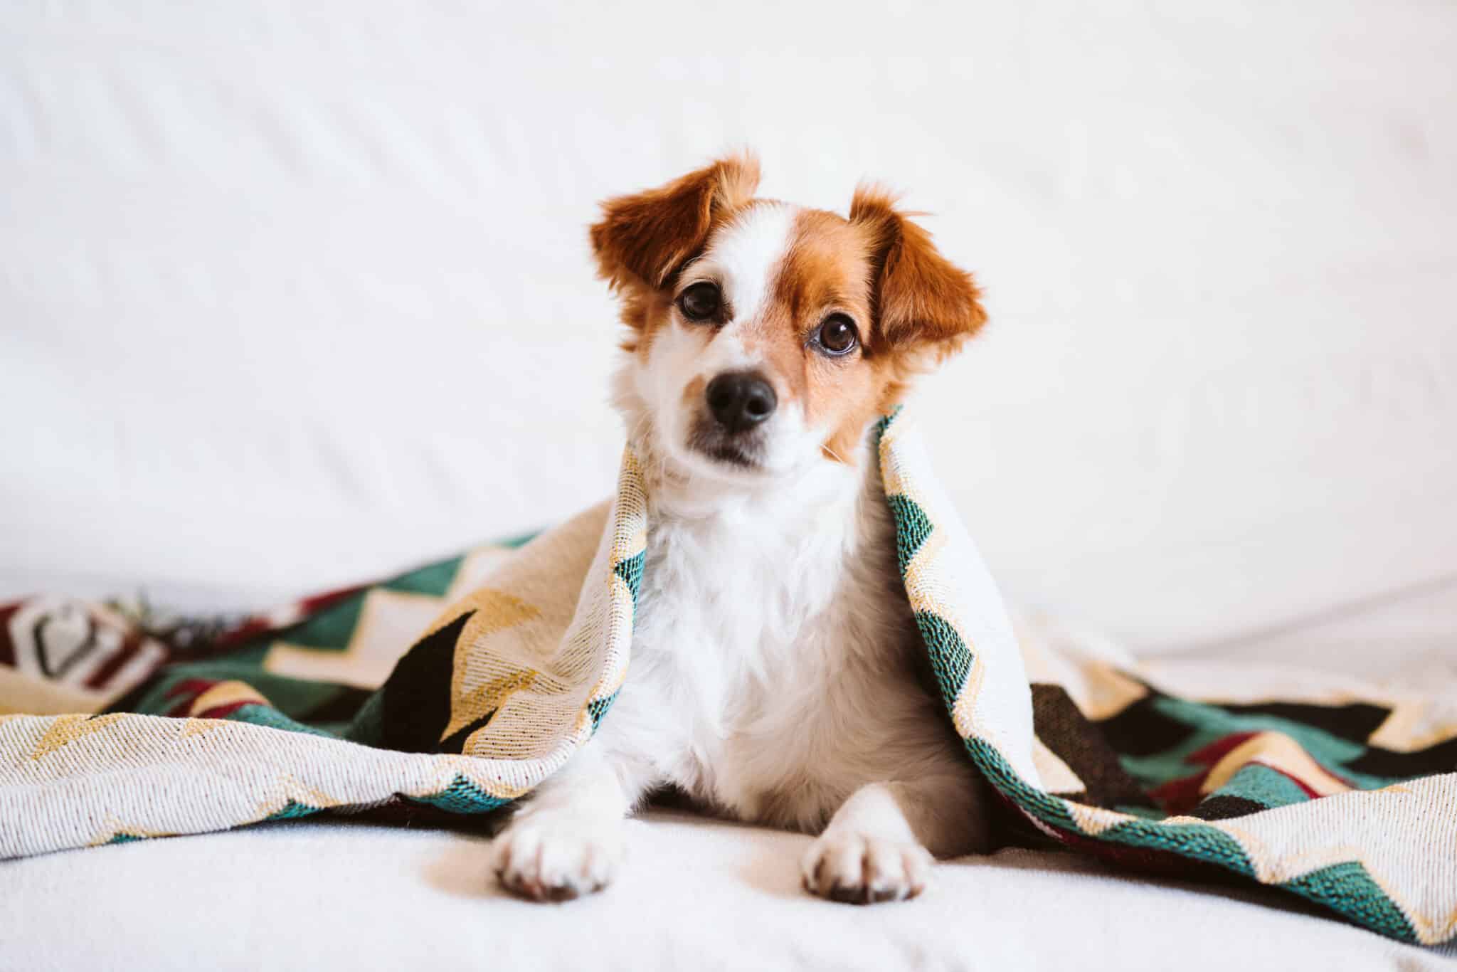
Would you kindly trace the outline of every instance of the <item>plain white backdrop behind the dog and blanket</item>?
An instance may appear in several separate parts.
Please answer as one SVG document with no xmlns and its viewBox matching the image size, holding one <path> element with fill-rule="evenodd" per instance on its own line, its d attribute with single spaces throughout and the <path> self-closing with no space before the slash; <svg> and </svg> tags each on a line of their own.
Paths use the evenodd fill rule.
<svg viewBox="0 0 1457 972">
<path fill-rule="evenodd" d="M 4 4 L 0 596 L 264 603 L 600 498 L 584 227 L 747 144 L 986 287 L 916 409 L 1016 600 L 1457 657 L 1457 6 L 898 6 Z"/>
</svg>

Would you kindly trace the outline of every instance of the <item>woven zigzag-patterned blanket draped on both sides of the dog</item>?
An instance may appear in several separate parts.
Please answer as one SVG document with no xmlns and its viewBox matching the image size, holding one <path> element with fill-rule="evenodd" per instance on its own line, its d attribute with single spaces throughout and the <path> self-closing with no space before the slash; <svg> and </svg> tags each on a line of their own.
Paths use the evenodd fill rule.
<svg viewBox="0 0 1457 972">
<path fill-rule="evenodd" d="M 947 717 L 1024 839 L 1457 936 L 1457 699 L 1018 643 L 909 420 L 876 437 Z M 628 452 L 612 501 L 529 542 L 262 616 L 0 608 L 0 857 L 516 800 L 610 717 L 645 500 Z"/>
</svg>

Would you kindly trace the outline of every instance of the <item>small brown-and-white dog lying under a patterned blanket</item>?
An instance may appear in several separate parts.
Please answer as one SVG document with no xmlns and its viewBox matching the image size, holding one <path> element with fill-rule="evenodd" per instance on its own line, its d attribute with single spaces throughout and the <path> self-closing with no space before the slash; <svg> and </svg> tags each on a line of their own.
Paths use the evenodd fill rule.
<svg viewBox="0 0 1457 972">
<path fill-rule="evenodd" d="M 849 219 L 755 198 L 752 157 L 609 200 L 629 328 L 616 405 L 650 509 L 627 682 L 492 845 L 511 892 L 605 886 L 622 819 L 678 788 L 819 834 L 804 887 L 912 898 L 985 850 L 989 797 L 924 678 L 868 434 L 985 321 L 972 277 L 877 188 Z"/>
</svg>

